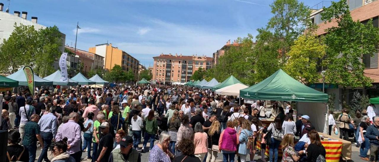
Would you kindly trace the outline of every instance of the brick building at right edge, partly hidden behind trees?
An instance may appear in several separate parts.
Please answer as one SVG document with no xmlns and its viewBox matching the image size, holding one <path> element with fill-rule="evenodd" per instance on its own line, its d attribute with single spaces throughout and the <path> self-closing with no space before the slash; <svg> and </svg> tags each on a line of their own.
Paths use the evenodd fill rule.
<svg viewBox="0 0 379 162">
<path fill-rule="evenodd" d="M 373 25 L 375 27 L 379 27 L 379 1 L 378 0 L 347 0 L 347 3 L 349 5 L 349 10 L 351 12 L 351 17 L 353 20 L 359 20 L 362 23 L 367 23 L 368 20 L 373 19 Z M 328 7 L 330 6 L 330 2 L 320 2 L 317 5 L 312 7 L 312 14 L 310 16 L 310 19 L 312 19 L 312 22 L 318 25 L 318 29 L 316 30 L 316 34 L 318 36 L 327 34 L 325 30 L 327 28 L 330 28 L 332 26 L 337 26 L 337 22 L 327 22 L 324 23 L 321 20 L 321 13 L 323 12 L 322 7 Z M 379 69 L 378 69 L 378 53 L 374 53 L 373 56 L 365 55 L 363 56 L 362 62 L 365 64 L 365 75 L 373 79 L 373 85 L 374 87 L 379 86 Z M 321 68 L 318 69 L 319 72 L 321 72 Z M 325 67 L 324 67 L 325 70 Z M 316 83 L 311 84 L 310 87 L 313 87 L 318 90 L 322 90 L 323 85 L 322 83 Z M 342 100 L 342 88 L 338 85 L 332 85 L 332 84 L 325 84 L 325 92 L 326 93 L 335 93 L 335 101 L 336 104 L 335 107 L 338 109 L 341 109 L 341 105 L 338 104 L 339 100 Z M 348 87 L 349 88 L 349 87 Z M 352 95 L 355 90 L 361 89 L 360 92 L 363 94 L 369 95 L 369 97 L 377 97 L 379 96 L 379 89 L 364 89 L 363 87 L 358 87 L 356 89 L 348 89 L 348 94 L 346 98 L 346 102 L 349 103 L 349 101 L 352 99 Z"/>
</svg>

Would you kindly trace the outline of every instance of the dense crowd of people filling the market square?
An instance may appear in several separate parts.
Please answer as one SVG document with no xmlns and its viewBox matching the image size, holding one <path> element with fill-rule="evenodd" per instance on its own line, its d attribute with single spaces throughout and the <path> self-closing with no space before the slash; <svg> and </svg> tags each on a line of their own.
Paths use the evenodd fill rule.
<svg viewBox="0 0 379 162">
<path fill-rule="evenodd" d="M 316 162 L 326 155 L 310 117 L 294 114 L 289 102 L 271 101 L 268 114 L 264 101 L 240 104 L 237 98 L 180 85 L 40 88 L 3 95 L 7 162 L 34 162 L 38 147 L 38 162 L 80 162 L 85 152 L 92 162 L 140 162 L 141 152 L 149 152 L 149 162 L 245 162 L 255 156 L 266 161 L 266 148 L 270 162 L 279 160 L 280 148 L 286 162 Z M 262 118 L 274 122 L 263 125 Z M 374 140 L 369 130 L 379 134 L 363 129 L 369 140 Z M 371 147 L 379 148 L 375 142 Z"/>
</svg>

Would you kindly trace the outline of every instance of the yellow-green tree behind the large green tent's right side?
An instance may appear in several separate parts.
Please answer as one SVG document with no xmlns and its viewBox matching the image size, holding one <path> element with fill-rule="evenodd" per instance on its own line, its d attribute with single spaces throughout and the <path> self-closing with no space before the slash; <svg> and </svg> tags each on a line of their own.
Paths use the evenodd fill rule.
<svg viewBox="0 0 379 162">
<path fill-rule="evenodd" d="M 318 82 L 321 75 L 317 72 L 317 63 L 325 56 L 325 48 L 323 39 L 314 34 L 299 36 L 288 52 L 290 58 L 284 67 L 285 72 L 307 85 Z"/>
</svg>

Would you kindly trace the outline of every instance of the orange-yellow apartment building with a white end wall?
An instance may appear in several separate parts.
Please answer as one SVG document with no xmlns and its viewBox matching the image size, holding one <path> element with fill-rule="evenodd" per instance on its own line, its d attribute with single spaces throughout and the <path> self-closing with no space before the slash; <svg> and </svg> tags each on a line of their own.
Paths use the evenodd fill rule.
<svg viewBox="0 0 379 162">
<path fill-rule="evenodd" d="M 110 70 L 114 65 L 120 65 L 122 70 L 132 70 L 135 76 L 138 75 L 139 61 L 125 51 L 113 47 L 112 44 L 95 45 L 95 47 L 89 48 L 88 51 L 105 58 L 104 69 Z"/>
</svg>

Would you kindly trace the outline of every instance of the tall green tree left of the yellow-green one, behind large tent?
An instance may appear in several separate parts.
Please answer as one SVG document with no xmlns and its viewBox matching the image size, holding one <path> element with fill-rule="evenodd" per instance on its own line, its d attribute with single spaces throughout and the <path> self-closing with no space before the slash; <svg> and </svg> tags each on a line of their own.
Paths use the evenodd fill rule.
<svg viewBox="0 0 379 162">
<path fill-rule="evenodd" d="M 288 52 L 305 29 L 314 28 L 311 10 L 298 0 L 275 0 L 270 5 L 274 14 L 265 28 L 258 29 L 254 55 L 254 82 L 262 81 L 287 64 Z"/>
</svg>

